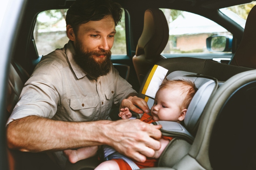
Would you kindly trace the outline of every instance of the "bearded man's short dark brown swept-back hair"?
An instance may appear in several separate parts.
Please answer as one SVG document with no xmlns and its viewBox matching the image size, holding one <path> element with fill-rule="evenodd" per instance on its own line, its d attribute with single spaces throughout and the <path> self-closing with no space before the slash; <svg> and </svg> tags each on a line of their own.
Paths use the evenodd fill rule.
<svg viewBox="0 0 256 170">
<path fill-rule="evenodd" d="M 111 15 L 116 26 L 122 12 L 121 5 L 111 0 L 76 0 L 67 11 L 66 25 L 71 25 L 76 34 L 80 24 L 99 21 Z"/>
</svg>

